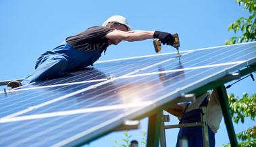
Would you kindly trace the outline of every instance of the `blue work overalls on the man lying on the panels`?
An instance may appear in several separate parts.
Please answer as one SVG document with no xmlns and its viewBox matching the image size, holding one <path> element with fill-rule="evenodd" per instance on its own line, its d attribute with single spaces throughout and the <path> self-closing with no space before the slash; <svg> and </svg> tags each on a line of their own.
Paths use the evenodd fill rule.
<svg viewBox="0 0 256 147">
<path fill-rule="evenodd" d="M 63 76 L 68 71 L 79 70 L 93 65 L 102 51 L 78 51 L 70 45 L 60 45 L 42 54 L 36 61 L 35 70 L 22 84 Z"/>
</svg>

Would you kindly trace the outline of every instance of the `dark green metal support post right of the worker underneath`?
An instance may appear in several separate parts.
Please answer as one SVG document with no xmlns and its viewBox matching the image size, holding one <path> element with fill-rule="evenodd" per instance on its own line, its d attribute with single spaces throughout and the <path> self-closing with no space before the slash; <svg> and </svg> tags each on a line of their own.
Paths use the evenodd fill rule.
<svg viewBox="0 0 256 147">
<path fill-rule="evenodd" d="M 232 123 L 232 119 L 230 116 L 230 109 L 228 107 L 228 95 L 226 93 L 225 86 L 219 86 L 216 88 L 217 94 L 219 95 L 220 105 L 222 107 L 222 114 L 224 116 L 224 121 L 226 124 L 226 129 L 228 131 L 228 138 L 230 139 L 230 144 L 232 147 L 238 146 L 236 140 L 236 134 L 234 132 L 234 127 Z"/>
</svg>

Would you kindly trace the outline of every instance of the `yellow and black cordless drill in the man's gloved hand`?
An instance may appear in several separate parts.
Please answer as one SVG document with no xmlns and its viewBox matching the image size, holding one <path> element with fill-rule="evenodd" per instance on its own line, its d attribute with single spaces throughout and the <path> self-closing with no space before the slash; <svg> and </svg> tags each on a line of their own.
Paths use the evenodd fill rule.
<svg viewBox="0 0 256 147">
<path fill-rule="evenodd" d="M 172 37 L 174 38 L 174 45 L 173 45 L 173 47 L 177 49 L 178 56 L 180 57 L 180 52 L 179 52 L 180 40 L 179 40 L 179 36 L 178 36 L 177 33 L 174 33 L 172 35 Z M 155 52 L 159 53 L 161 51 L 161 41 L 159 40 L 159 38 L 154 38 L 153 39 L 153 45 L 155 47 Z"/>
</svg>

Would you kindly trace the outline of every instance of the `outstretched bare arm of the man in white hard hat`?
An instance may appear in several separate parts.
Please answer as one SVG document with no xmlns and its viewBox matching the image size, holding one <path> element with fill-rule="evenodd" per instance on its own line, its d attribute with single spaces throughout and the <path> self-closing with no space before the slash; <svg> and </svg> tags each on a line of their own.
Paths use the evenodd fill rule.
<svg viewBox="0 0 256 147">
<path fill-rule="evenodd" d="M 146 30 L 132 30 L 128 32 L 113 30 L 107 33 L 106 37 L 113 40 L 139 41 L 153 38 L 154 32 L 155 31 Z"/>
</svg>

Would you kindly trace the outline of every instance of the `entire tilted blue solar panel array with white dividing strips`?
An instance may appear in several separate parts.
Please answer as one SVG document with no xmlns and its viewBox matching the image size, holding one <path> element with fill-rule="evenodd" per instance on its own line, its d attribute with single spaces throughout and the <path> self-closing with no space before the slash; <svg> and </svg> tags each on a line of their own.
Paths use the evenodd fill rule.
<svg viewBox="0 0 256 147">
<path fill-rule="evenodd" d="M 256 42 L 99 61 L 0 92 L 0 146 L 75 146 L 256 63 Z"/>
</svg>

